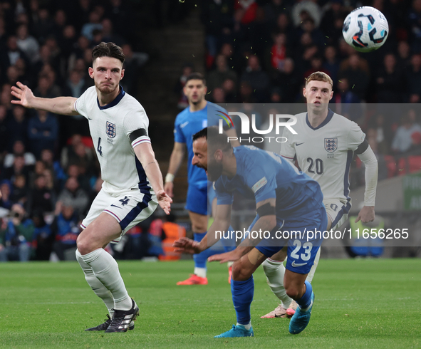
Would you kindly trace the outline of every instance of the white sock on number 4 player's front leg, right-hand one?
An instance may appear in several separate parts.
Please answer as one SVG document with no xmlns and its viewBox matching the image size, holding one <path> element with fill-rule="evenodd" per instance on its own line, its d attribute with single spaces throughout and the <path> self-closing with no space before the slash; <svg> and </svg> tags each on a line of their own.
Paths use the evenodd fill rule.
<svg viewBox="0 0 421 349">
<path fill-rule="evenodd" d="M 93 274 L 111 292 L 114 299 L 114 308 L 121 311 L 128 311 L 132 308 L 132 298 L 125 289 L 123 278 L 118 271 L 118 264 L 104 249 L 95 249 L 82 256 L 83 261 L 88 264 Z"/>
</svg>

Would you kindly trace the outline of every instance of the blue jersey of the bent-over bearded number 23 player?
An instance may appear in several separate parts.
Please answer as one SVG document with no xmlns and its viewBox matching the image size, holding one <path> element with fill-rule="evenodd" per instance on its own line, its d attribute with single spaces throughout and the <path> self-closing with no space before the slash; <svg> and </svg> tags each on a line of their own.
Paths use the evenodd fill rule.
<svg viewBox="0 0 421 349">
<path fill-rule="evenodd" d="M 256 203 L 276 199 L 279 224 L 302 222 L 321 205 L 323 194 L 318 183 L 280 155 L 243 145 L 234 148 L 234 156 L 237 174 L 232 179 L 222 175 L 215 182 L 218 204 L 232 204 L 235 191 Z"/>
</svg>

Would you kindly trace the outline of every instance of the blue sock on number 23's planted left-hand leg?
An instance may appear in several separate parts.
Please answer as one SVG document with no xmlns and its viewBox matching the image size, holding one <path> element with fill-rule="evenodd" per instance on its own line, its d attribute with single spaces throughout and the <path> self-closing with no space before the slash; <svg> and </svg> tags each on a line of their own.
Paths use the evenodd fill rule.
<svg viewBox="0 0 421 349">
<path fill-rule="evenodd" d="M 254 280 L 250 276 L 246 281 L 231 280 L 232 303 L 237 313 L 237 323 L 247 325 L 250 322 L 250 304 L 254 295 Z"/>
</svg>

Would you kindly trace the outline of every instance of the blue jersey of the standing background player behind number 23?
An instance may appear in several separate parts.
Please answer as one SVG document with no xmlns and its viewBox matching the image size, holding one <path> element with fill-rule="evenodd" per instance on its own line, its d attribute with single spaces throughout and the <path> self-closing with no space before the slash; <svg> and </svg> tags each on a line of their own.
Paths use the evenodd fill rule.
<svg viewBox="0 0 421 349">
<path fill-rule="evenodd" d="M 192 165 L 194 155 L 193 135 L 204 127 L 218 125 L 220 117 L 217 114 L 220 113 L 217 113 L 217 110 L 227 113 L 227 110 L 219 107 L 219 105 L 208 102 L 205 108 L 197 110 L 197 112 L 191 112 L 190 108 L 187 107 L 175 118 L 174 140 L 187 146 L 189 184 L 194 183 L 199 187 L 207 187 L 206 172 L 202 168 Z"/>
</svg>

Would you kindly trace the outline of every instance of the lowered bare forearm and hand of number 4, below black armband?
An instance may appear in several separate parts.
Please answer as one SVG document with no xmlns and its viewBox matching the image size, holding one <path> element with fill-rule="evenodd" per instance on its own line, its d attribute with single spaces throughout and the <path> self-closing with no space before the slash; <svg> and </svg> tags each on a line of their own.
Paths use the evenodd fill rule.
<svg viewBox="0 0 421 349">
<path fill-rule="evenodd" d="M 140 143 L 140 145 L 135 146 L 134 150 L 137 159 L 139 159 L 143 169 L 145 170 L 147 179 L 149 179 L 149 182 L 157 195 L 160 207 L 166 214 L 170 214 L 172 199 L 164 190 L 162 173 L 160 166 L 155 159 L 155 153 L 152 150 L 152 145 L 146 142 Z"/>
</svg>

